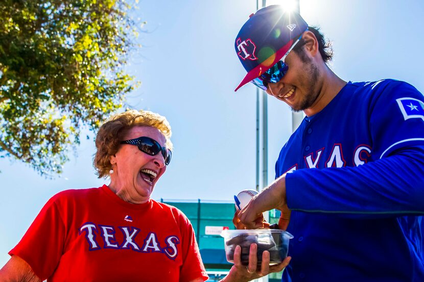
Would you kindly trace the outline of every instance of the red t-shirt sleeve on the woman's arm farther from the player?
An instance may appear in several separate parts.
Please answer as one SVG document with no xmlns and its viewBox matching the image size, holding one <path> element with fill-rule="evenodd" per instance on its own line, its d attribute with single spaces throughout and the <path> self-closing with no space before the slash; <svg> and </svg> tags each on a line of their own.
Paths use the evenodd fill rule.
<svg viewBox="0 0 424 282">
<path fill-rule="evenodd" d="M 9 252 L 26 261 L 41 280 L 53 274 L 64 246 L 65 226 L 56 199 L 54 196 L 44 205 L 25 235 Z"/>
</svg>

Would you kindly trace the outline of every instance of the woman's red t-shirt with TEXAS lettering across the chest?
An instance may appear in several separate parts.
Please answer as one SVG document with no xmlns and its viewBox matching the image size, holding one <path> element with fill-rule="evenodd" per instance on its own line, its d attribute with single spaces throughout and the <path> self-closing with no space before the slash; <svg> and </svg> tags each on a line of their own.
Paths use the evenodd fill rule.
<svg viewBox="0 0 424 282">
<path fill-rule="evenodd" d="M 9 254 L 48 281 L 208 278 L 181 211 L 152 199 L 123 201 L 106 185 L 53 196 Z"/>
</svg>

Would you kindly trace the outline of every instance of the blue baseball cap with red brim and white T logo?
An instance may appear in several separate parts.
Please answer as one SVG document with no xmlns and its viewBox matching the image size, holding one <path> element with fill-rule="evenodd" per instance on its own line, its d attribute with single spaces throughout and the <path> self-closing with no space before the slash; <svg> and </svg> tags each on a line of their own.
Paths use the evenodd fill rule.
<svg viewBox="0 0 424 282">
<path fill-rule="evenodd" d="M 298 13 L 281 5 L 251 14 L 235 38 L 235 52 L 247 74 L 234 91 L 275 65 L 307 29 L 308 23 Z"/>
</svg>

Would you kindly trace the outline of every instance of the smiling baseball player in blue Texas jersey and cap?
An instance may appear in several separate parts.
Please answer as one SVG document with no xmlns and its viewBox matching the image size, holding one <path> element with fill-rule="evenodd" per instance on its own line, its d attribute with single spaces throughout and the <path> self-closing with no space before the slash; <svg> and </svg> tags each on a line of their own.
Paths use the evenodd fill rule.
<svg viewBox="0 0 424 282">
<path fill-rule="evenodd" d="M 237 89 L 251 82 L 305 114 L 237 227 L 282 211 L 295 237 L 283 281 L 424 281 L 424 96 L 340 79 L 322 34 L 279 6 L 247 20 L 235 51 L 247 71 Z"/>
</svg>

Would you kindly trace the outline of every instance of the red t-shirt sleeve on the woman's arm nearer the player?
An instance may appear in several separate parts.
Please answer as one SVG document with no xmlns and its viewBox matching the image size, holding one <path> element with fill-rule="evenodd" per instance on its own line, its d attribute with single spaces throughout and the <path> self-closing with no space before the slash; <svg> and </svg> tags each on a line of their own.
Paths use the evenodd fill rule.
<svg viewBox="0 0 424 282">
<path fill-rule="evenodd" d="M 207 280 L 209 277 L 200 257 L 199 247 L 196 242 L 194 229 L 190 220 L 180 214 L 180 229 L 182 235 L 182 266 L 180 269 L 180 282 L 188 282 L 196 278 Z"/>
</svg>

